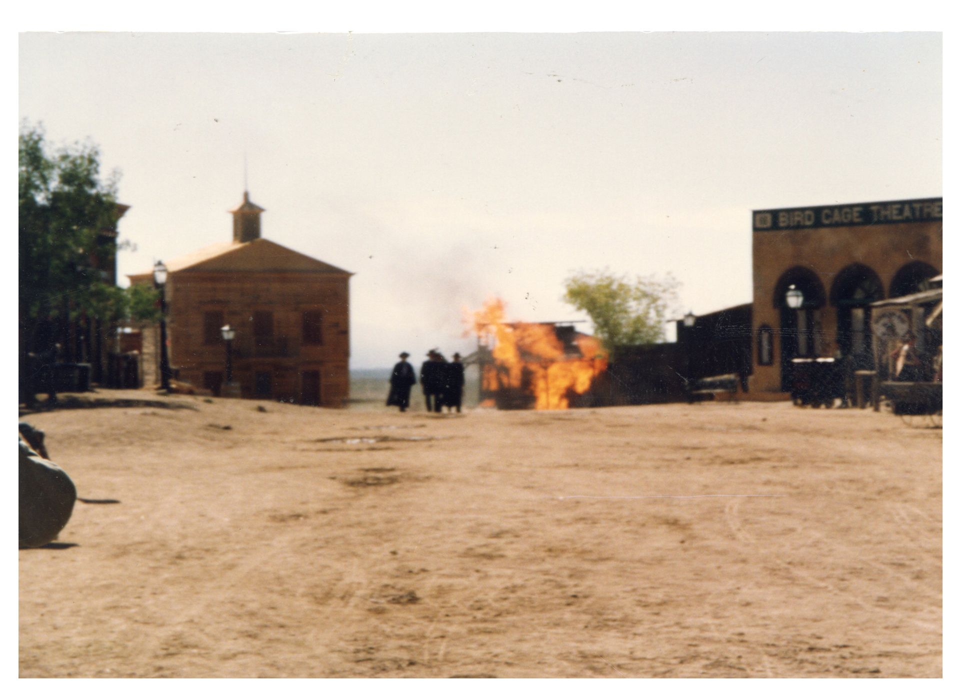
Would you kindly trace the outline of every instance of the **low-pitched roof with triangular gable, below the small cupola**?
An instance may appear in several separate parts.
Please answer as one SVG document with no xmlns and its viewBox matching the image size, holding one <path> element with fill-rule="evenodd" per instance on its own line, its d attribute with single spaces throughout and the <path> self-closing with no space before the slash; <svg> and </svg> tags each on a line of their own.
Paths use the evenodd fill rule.
<svg viewBox="0 0 960 698">
<path fill-rule="evenodd" d="M 181 272 L 307 272 L 352 276 L 346 270 L 296 252 L 271 240 L 224 242 L 166 262 L 168 274 Z M 153 277 L 154 270 L 128 275 L 132 280 Z"/>
</svg>

